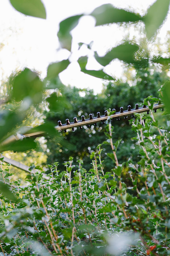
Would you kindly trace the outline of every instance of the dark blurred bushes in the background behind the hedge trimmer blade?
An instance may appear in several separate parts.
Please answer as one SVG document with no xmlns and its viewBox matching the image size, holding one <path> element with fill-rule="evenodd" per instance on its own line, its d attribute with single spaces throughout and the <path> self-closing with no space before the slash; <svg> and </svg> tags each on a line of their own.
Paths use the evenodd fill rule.
<svg viewBox="0 0 170 256">
<path fill-rule="evenodd" d="M 64 108 L 62 113 L 56 113 L 56 111 L 45 112 L 46 120 L 54 122 L 58 125 L 58 120 L 62 121 L 62 124 L 66 123 L 66 118 L 69 118 L 70 122 L 74 117 L 81 120 L 81 116 L 89 118 L 89 114 L 92 113 L 96 116 L 99 111 L 101 115 L 104 114 L 104 110 L 115 108 L 119 111 L 120 107 L 126 110 L 128 105 L 135 108 L 135 104 L 138 103 L 142 106 L 143 99 L 149 95 L 154 97 L 158 96 L 158 89 L 167 80 L 166 73 L 160 70 L 155 70 L 153 67 L 146 67 L 143 69 L 137 69 L 137 74 L 134 78 L 130 78 L 133 86 L 129 83 L 123 83 L 121 80 L 109 83 L 104 87 L 101 94 L 94 95 L 92 90 L 84 89 L 84 97 L 81 97 L 81 90 L 77 88 L 65 87 L 62 90 L 63 97 L 70 102 L 68 108 Z M 51 84 L 57 84 L 56 79 L 51 80 Z M 162 122 L 164 117 L 160 117 Z M 129 118 L 128 118 L 129 119 Z M 134 137 L 134 131 L 131 131 L 128 119 L 122 118 L 119 121 L 114 119 L 114 138 L 122 139 L 117 156 L 120 162 L 127 161 L 127 159 L 133 155 L 133 160 L 138 161 L 138 148 L 131 142 L 131 138 Z M 98 123 L 95 127 L 86 129 L 77 129 L 76 132 L 62 132 L 60 142 L 58 138 L 49 138 L 47 140 L 47 147 L 50 152 L 47 154 L 47 163 L 58 161 L 68 161 L 70 156 L 76 158 L 82 158 L 85 167 L 90 167 L 90 159 L 88 158 L 92 150 L 95 150 L 98 142 L 105 140 L 104 132 L 106 131 L 105 125 Z M 55 147 L 54 147 L 55 143 Z M 135 148 L 134 148 L 135 147 Z M 103 150 L 108 152 L 110 150 L 106 145 Z M 107 156 L 102 153 L 102 157 L 105 159 Z M 105 169 L 110 168 L 110 159 L 104 163 Z M 63 169 L 60 164 L 60 169 Z"/>
</svg>

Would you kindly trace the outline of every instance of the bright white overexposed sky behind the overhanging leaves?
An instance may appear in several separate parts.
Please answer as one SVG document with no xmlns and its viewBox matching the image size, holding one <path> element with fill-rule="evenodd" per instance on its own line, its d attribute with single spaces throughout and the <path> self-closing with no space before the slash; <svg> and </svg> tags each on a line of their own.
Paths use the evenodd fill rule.
<svg viewBox="0 0 170 256">
<path fill-rule="evenodd" d="M 96 7 L 102 4 L 111 3 L 115 7 L 128 8 L 144 14 L 154 0 L 43 0 L 47 12 L 47 19 L 33 18 L 17 12 L 9 0 L 0 1 L 0 79 L 5 80 L 12 71 L 24 67 L 35 69 L 40 72 L 41 77 L 46 76 L 47 67 L 50 63 L 67 59 L 67 50 L 59 50 L 57 32 L 59 22 L 69 16 L 76 14 L 90 14 Z M 166 38 L 169 29 L 170 15 L 159 32 L 162 41 Z M 89 44 L 94 41 L 93 49 L 102 55 L 106 50 L 117 45 L 124 35 L 130 33 L 140 37 L 138 31 L 133 27 L 125 30 L 118 25 L 95 27 L 95 20 L 91 16 L 81 18 L 79 25 L 72 31 L 74 43 L 71 56 L 72 63 L 66 71 L 60 74 L 64 84 L 71 84 L 79 88 L 89 87 L 98 93 L 102 89 L 103 81 L 80 72 L 76 60 L 80 53 L 89 54 L 90 61 L 88 69 L 99 69 L 101 66 L 92 56 L 92 51 L 85 46 L 78 52 L 78 42 Z M 139 34 L 139 35 L 138 35 Z M 122 64 L 115 60 L 106 68 L 109 75 L 119 78 L 122 75 Z"/>
</svg>

